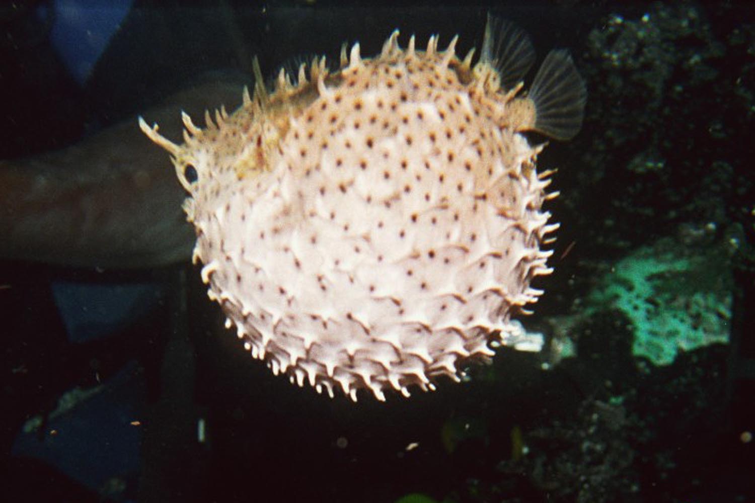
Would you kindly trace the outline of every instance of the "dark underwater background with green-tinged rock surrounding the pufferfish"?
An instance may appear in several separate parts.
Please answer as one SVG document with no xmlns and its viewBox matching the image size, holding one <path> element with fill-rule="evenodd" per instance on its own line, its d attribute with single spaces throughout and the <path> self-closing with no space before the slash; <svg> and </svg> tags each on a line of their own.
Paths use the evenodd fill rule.
<svg viewBox="0 0 755 503">
<path fill-rule="evenodd" d="M 556 271 L 521 321 L 544 351 L 501 348 L 468 382 L 387 403 L 270 375 L 208 302 L 191 231 L 171 220 L 183 191 L 167 155 L 143 153 L 136 115 L 158 107 L 178 131 L 181 106 L 239 106 L 254 55 L 272 80 L 316 54 L 337 61 L 345 41 L 376 54 L 395 28 L 402 44 L 458 34 L 466 54 L 488 11 L 529 33 L 538 62 L 569 48 L 587 82 L 581 133 L 538 159 L 558 169 L 547 210 L 561 228 Z M 3 501 L 753 501 L 753 14 L 749 2 L 3 5 Z M 55 204 L 25 202 L 39 173 Z M 102 222 L 66 216 L 82 200 L 108 208 Z"/>
</svg>

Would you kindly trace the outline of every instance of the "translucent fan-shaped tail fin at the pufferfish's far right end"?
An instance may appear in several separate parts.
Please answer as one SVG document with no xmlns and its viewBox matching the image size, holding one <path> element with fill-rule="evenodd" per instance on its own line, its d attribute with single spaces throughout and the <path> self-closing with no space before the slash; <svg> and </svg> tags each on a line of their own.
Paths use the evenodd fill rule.
<svg viewBox="0 0 755 503">
<path fill-rule="evenodd" d="M 569 51 L 550 51 L 529 91 L 535 104 L 535 130 L 556 140 L 571 140 L 582 127 L 587 87 Z"/>
</svg>

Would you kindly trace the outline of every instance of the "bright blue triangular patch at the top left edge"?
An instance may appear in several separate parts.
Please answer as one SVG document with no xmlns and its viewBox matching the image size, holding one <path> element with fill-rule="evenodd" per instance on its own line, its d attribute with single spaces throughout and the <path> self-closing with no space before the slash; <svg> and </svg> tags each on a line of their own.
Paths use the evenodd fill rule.
<svg viewBox="0 0 755 503">
<path fill-rule="evenodd" d="M 37 11 L 53 16 L 52 44 L 69 72 L 85 84 L 134 0 L 54 0 Z M 50 9 L 53 12 L 50 12 Z"/>
</svg>

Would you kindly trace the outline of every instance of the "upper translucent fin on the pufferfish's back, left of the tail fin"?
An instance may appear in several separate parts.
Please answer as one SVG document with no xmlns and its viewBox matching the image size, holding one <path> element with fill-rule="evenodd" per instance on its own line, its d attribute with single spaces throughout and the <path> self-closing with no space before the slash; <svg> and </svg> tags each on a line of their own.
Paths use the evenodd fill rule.
<svg viewBox="0 0 755 503">
<path fill-rule="evenodd" d="M 532 68 L 535 48 L 529 35 L 519 26 L 488 13 L 479 62 L 498 69 L 501 84 L 509 90 L 519 84 Z"/>
</svg>

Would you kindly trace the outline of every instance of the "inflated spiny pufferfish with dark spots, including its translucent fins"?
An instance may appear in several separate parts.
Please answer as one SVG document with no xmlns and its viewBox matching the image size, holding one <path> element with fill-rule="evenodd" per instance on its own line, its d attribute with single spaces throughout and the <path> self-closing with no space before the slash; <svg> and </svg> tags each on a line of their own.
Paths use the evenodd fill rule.
<svg viewBox="0 0 755 503">
<path fill-rule="evenodd" d="M 490 344 L 527 345 L 511 315 L 535 302 L 547 275 L 542 146 L 522 131 L 569 139 L 585 88 L 565 51 L 544 60 L 529 94 L 529 38 L 488 18 L 472 66 L 438 38 L 364 59 L 355 44 L 281 70 L 205 129 L 188 115 L 183 145 L 140 127 L 172 155 L 189 192 L 193 259 L 208 296 L 273 373 L 333 396 L 378 400 L 410 385 L 434 389 L 488 360 Z M 309 75 L 307 75 L 309 74 Z"/>
</svg>

